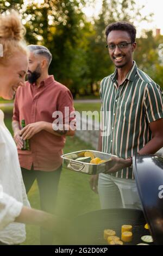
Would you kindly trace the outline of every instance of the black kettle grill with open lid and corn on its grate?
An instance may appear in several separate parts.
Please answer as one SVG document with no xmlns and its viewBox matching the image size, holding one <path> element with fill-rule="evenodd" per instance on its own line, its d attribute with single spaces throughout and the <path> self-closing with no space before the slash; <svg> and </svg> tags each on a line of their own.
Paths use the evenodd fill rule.
<svg viewBox="0 0 163 256">
<path fill-rule="evenodd" d="M 104 209 L 80 215 L 74 220 L 73 244 L 105 245 L 104 229 L 113 229 L 121 237 L 121 226 L 131 224 L 133 240 L 126 245 L 142 243 L 141 236 L 150 232 L 154 240 L 150 244 L 163 245 L 163 159 L 155 155 L 135 155 L 133 168 L 143 211 Z M 145 229 L 146 223 L 150 230 Z"/>
</svg>

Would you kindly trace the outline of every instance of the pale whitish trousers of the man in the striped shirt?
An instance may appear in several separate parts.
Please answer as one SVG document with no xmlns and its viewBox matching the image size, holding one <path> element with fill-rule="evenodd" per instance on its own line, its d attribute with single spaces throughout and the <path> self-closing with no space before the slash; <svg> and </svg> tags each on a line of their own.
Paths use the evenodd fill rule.
<svg viewBox="0 0 163 256">
<path fill-rule="evenodd" d="M 98 194 L 102 209 L 142 209 L 135 180 L 99 174 Z"/>
</svg>

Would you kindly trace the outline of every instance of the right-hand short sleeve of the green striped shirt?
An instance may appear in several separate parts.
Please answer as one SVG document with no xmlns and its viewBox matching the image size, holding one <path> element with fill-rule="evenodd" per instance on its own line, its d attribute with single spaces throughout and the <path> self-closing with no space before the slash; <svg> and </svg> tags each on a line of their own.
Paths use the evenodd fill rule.
<svg viewBox="0 0 163 256">
<path fill-rule="evenodd" d="M 163 96 L 158 84 L 148 83 L 145 92 L 144 109 L 148 123 L 163 118 Z"/>
</svg>

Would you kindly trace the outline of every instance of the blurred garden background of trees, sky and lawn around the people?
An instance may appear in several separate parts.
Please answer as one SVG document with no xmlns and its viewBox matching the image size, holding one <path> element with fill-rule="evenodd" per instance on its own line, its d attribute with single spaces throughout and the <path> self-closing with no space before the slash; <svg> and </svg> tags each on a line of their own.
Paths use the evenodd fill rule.
<svg viewBox="0 0 163 256">
<path fill-rule="evenodd" d="M 16 9 L 27 29 L 27 44 L 49 48 L 53 55 L 49 74 L 70 88 L 76 110 L 99 112 L 100 81 L 114 71 L 105 48 L 105 27 L 110 22 L 134 23 L 137 29 L 134 59 L 139 68 L 163 88 L 163 57 L 159 54 L 163 49 L 161 3 L 161 0 L 0 0 L 0 13 Z M 13 103 L 0 99 L 0 107 L 12 133 Z M 84 131 L 83 135 L 77 135 L 67 138 L 64 154 L 96 149 L 96 133 L 90 135 Z M 100 209 L 98 195 L 90 190 L 89 179 L 89 175 L 62 170 L 57 214 L 73 218 Z M 31 205 L 39 209 L 36 182 L 28 197 Z M 27 225 L 27 240 L 23 244 L 38 245 L 39 228 Z M 64 240 L 55 237 L 54 244 L 64 244 Z"/>
</svg>

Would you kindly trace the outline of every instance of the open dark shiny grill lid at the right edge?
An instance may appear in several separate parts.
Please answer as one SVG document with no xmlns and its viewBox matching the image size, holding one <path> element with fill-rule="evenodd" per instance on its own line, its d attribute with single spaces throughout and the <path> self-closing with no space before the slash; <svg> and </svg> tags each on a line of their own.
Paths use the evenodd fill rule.
<svg viewBox="0 0 163 256">
<path fill-rule="evenodd" d="M 163 245 L 163 159 L 155 155 L 135 155 L 133 169 L 154 243 Z"/>
</svg>

